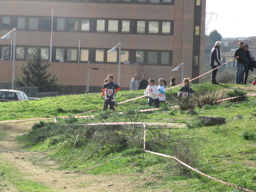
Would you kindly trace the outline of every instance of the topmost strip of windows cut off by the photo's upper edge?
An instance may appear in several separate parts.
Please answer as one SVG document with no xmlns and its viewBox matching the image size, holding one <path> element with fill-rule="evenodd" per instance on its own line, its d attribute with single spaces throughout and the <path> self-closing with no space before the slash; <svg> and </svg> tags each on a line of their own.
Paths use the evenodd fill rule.
<svg viewBox="0 0 256 192">
<path fill-rule="evenodd" d="M 174 5 L 174 0 L 37 0 L 37 1 Z"/>
</svg>

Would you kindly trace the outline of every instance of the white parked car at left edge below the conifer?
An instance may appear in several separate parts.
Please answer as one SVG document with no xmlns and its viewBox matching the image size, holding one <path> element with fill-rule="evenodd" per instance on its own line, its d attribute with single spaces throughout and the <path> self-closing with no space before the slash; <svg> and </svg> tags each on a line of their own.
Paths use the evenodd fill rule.
<svg viewBox="0 0 256 192">
<path fill-rule="evenodd" d="M 22 91 L 1 89 L 0 102 L 28 100 L 28 96 Z"/>
</svg>

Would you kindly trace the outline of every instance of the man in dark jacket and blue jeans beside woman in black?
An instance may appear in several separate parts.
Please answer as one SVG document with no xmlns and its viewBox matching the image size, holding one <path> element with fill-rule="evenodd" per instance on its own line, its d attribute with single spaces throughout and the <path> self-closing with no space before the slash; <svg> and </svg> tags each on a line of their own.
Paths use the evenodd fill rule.
<svg viewBox="0 0 256 192">
<path fill-rule="evenodd" d="M 234 58 L 236 58 L 236 84 L 242 83 L 242 73 L 244 69 L 244 64 L 247 63 L 247 57 L 244 51 L 244 42 L 239 42 L 239 48 L 235 51 Z"/>
</svg>

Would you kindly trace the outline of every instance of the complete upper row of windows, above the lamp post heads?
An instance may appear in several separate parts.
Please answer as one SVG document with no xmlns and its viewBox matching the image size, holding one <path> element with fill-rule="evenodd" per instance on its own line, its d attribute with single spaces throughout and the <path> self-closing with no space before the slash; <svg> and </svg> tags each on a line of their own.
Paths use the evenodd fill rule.
<svg viewBox="0 0 256 192">
<path fill-rule="evenodd" d="M 1 16 L 2 29 L 50 31 L 51 17 Z M 173 20 L 54 17 L 54 31 L 173 35 Z M 0 28 L 0 29 L 1 29 Z"/>
</svg>

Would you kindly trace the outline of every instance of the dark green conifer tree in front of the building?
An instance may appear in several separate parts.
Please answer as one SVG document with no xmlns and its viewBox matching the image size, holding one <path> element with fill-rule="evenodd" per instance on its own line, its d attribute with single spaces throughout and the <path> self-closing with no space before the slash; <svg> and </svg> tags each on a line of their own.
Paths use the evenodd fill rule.
<svg viewBox="0 0 256 192">
<path fill-rule="evenodd" d="M 16 76 L 15 81 L 17 86 L 37 86 L 38 92 L 60 91 L 63 89 L 64 85 L 56 83 L 58 78 L 48 73 L 49 70 L 47 70 L 47 68 L 52 64 L 50 62 L 44 64 L 41 56 L 41 47 L 37 46 L 32 51 L 31 55 L 31 60 L 26 59 L 27 66 L 22 64 L 21 71 L 24 76 L 21 76 L 21 80 Z"/>
</svg>

